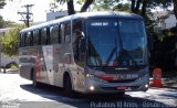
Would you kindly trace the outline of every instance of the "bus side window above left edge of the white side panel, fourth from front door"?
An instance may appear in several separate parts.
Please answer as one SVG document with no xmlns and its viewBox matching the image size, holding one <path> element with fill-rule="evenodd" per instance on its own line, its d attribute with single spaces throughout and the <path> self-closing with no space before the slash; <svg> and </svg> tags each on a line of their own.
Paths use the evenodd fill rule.
<svg viewBox="0 0 177 108">
<path fill-rule="evenodd" d="M 46 28 L 43 28 L 41 30 L 41 44 L 46 45 L 48 44 L 48 33 L 46 33 Z"/>
</svg>

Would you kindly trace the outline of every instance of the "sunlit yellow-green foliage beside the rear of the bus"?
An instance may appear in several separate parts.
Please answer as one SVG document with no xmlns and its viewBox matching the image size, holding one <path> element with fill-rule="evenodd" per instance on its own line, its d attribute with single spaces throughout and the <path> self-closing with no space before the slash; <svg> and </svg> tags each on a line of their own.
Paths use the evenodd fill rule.
<svg viewBox="0 0 177 108">
<path fill-rule="evenodd" d="M 19 40 L 18 35 L 24 25 L 12 26 L 6 35 L 0 36 L 1 52 L 4 55 L 15 57 L 18 55 Z"/>
</svg>

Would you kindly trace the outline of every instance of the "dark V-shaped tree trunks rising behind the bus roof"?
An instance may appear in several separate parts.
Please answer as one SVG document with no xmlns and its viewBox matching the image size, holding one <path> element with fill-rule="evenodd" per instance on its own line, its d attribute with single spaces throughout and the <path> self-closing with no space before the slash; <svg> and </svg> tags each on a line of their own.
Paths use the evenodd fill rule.
<svg viewBox="0 0 177 108">
<path fill-rule="evenodd" d="M 75 9 L 74 9 L 74 0 L 55 0 L 60 4 L 64 4 L 66 2 L 67 4 L 67 12 L 70 14 L 75 14 Z M 77 0 L 77 2 L 83 3 L 80 12 L 85 12 L 87 8 L 93 3 L 94 0 Z"/>
</svg>

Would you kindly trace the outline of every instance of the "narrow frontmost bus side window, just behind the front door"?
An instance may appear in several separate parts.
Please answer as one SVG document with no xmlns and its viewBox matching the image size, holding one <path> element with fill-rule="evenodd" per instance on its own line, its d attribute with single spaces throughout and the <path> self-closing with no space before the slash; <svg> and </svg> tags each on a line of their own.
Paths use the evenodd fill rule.
<svg viewBox="0 0 177 108">
<path fill-rule="evenodd" d="M 70 43 L 71 41 L 71 24 L 65 23 L 64 24 L 64 42 Z"/>
</svg>

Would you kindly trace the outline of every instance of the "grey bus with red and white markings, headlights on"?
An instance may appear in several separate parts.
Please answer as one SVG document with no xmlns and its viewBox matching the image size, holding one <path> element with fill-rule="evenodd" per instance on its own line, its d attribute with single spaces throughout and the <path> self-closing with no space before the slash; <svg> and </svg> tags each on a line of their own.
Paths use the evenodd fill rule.
<svg viewBox="0 0 177 108">
<path fill-rule="evenodd" d="M 84 12 L 20 31 L 20 76 L 83 94 L 146 91 L 144 19 L 124 12 Z"/>
</svg>

